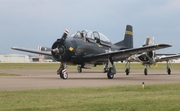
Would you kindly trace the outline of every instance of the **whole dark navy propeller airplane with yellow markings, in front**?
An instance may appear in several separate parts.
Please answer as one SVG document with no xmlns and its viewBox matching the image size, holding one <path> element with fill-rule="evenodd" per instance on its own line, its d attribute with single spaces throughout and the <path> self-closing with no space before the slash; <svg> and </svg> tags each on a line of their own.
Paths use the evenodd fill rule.
<svg viewBox="0 0 180 111">
<path fill-rule="evenodd" d="M 130 25 L 127 25 L 125 31 L 126 35 L 130 35 L 127 41 L 120 41 L 115 44 L 112 44 L 105 35 L 97 31 L 76 31 L 69 37 L 68 33 L 68 30 L 64 31 L 62 37 L 52 44 L 51 51 L 31 50 L 20 47 L 12 47 L 12 49 L 52 56 L 56 61 L 60 62 L 57 74 L 62 79 L 68 78 L 66 65 L 78 65 L 79 71 L 81 71 L 81 68 L 89 67 L 89 65 L 96 66 L 105 63 L 111 64 L 111 67 L 108 68 L 107 78 L 113 79 L 116 74 L 114 61 L 119 61 L 134 54 L 171 47 L 169 44 L 156 44 L 130 48 L 133 43 L 128 44 L 128 49 L 124 47 L 125 45 L 122 47 L 122 44 L 132 40 L 132 26 Z"/>
</svg>

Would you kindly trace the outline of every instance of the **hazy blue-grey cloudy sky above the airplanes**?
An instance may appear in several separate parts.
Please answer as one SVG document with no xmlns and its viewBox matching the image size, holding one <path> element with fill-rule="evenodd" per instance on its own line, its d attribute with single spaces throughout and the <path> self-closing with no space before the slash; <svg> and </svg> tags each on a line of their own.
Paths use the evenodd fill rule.
<svg viewBox="0 0 180 111">
<path fill-rule="evenodd" d="M 12 46 L 51 47 L 64 29 L 98 31 L 112 43 L 133 26 L 134 47 L 147 36 L 180 53 L 180 0 L 0 0 L 0 54 L 29 54 Z"/>
</svg>

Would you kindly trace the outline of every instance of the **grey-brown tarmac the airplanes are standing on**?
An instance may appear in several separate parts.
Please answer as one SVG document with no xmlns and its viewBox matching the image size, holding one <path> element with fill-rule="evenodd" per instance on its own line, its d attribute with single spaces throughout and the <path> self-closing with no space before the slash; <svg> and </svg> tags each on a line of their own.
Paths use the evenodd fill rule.
<svg viewBox="0 0 180 111">
<path fill-rule="evenodd" d="M 180 70 L 172 70 L 171 75 L 168 75 L 166 70 L 148 70 L 148 75 L 144 75 L 143 70 L 131 70 L 129 75 L 118 70 L 113 79 L 108 79 L 107 74 L 101 70 L 84 69 L 82 73 L 68 70 L 66 80 L 61 79 L 56 70 L 48 69 L 0 69 L 0 72 L 21 75 L 0 76 L 0 90 L 124 86 L 141 85 L 142 82 L 145 85 L 180 83 Z"/>
</svg>

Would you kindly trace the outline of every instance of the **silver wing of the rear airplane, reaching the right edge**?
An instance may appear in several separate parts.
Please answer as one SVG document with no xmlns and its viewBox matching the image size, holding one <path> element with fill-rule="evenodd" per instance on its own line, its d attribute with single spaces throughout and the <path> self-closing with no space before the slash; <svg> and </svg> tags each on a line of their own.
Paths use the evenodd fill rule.
<svg viewBox="0 0 180 111">
<path fill-rule="evenodd" d="M 170 55 L 170 56 L 158 56 L 156 58 L 156 62 L 168 61 L 168 60 L 177 59 L 177 58 L 180 58 L 180 54 Z"/>
</svg>

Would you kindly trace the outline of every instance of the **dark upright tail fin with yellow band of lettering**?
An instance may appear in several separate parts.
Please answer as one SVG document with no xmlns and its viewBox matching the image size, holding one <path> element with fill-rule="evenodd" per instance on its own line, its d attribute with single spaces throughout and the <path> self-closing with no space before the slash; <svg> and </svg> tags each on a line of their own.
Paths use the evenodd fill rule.
<svg viewBox="0 0 180 111">
<path fill-rule="evenodd" d="M 131 25 L 126 26 L 124 40 L 114 45 L 120 46 L 121 49 L 133 48 L 133 27 Z"/>
</svg>

